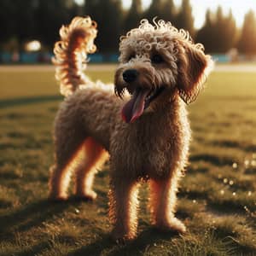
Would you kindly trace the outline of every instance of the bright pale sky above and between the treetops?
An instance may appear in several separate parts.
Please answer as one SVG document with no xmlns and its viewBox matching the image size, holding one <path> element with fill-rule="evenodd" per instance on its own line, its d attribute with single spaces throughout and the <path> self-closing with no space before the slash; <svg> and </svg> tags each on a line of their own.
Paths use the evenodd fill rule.
<svg viewBox="0 0 256 256">
<path fill-rule="evenodd" d="M 83 3 L 84 0 L 75 0 L 77 3 Z M 90 1 L 90 0 L 89 0 Z M 142 0 L 143 7 L 147 8 L 150 0 Z M 180 6 L 182 0 L 173 0 L 176 6 Z M 129 8 L 131 0 L 123 0 L 125 8 Z M 256 13 L 256 0 L 190 0 L 193 16 L 195 18 L 195 28 L 200 28 L 205 20 L 206 10 L 209 8 L 215 11 L 218 5 L 224 10 L 224 15 L 228 14 L 230 9 L 236 19 L 236 26 L 241 27 L 244 15 L 249 9 L 253 9 Z M 169 20 L 172 22 L 172 20 Z"/>
</svg>

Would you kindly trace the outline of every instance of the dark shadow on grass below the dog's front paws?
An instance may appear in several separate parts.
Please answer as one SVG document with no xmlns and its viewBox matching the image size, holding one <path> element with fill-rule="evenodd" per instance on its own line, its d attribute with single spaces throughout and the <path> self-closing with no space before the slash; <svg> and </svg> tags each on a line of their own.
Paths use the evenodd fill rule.
<svg viewBox="0 0 256 256">
<path fill-rule="evenodd" d="M 141 253 L 146 252 L 149 247 L 157 246 L 158 241 L 162 240 L 172 240 L 172 238 L 177 237 L 177 233 L 173 232 L 160 232 L 154 228 L 148 227 L 143 230 L 137 238 L 133 241 L 128 241 L 125 244 L 117 244 L 110 237 L 109 234 L 104 234 L 101 238 L 90 243 L 87 246 L 80 247 L 73 253 L 69 253 L 68 256 L 73 255 L 87 255 L 87 256 L 97 256 L 107 253 L 109 256 L 118 255 L 141 255 Z"/>
</svg>

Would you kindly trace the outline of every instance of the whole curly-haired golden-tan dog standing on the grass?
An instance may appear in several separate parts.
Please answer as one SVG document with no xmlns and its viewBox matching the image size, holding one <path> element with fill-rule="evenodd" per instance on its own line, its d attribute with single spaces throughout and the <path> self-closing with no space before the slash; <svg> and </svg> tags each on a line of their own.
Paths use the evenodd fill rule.
<svg viewBox="0 0 256 256">
<path fill-rule="evenodd" d="M 114 239 L 136 236 L 141 180 L 149 183 L 152 223 L 184 232 L 184 224 L 174 216 L 190 140 L 184 102 L 195 101 L 211 70 L 211 57 L 188 32 L 163 20 L 153 25 L 142 20 L 121 38 L 114 86 L 93 83 L 82 71 L 87 53 L 96 50 L 96 22 L 76 17 L 60 34 L 54 63 L 67 97 L 55 118 L 50 198 L 67 199 L 74 172 L 75 195 L 95 199 L 94 175 L 109 153 Z"/>
</svg>

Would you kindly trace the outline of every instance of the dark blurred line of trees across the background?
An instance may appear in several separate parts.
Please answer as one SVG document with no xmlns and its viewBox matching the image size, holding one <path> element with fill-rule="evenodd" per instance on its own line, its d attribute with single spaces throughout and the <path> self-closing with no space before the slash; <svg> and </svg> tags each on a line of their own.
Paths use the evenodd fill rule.
<svg viewBox="0 0 256 256">
<path fill-rule="evenodd" d="M 237 48 L 246 55 L 256 54 L 256 18 L 252 10 L 238 29 L 231 11 L 224 15 L 220 6 L 216 12 L 208 9 L 204 25 L 196 30 L 189 0 L 183 0 L 180 7 L 173 0 L 152 0 L 148 9 L 143 9 L 142 0 L 132 0 L 130 9 L 124 9 L 121 0 L 86 0 L 82 5 L 73 0 L 1 0 L 0 49 L 23 50 L 26 42 L 36 39 L 43 50 L 50 50 L 59 38 L 60 26 L 75 15 L 90 15 L 96 20 L 96 45 L 103 53 L 116 52 L 120 35 L 138 26 L 143 18 L 153 20 L 157 16 L 188 30 L 207 52 L 225 53 Z"/>
</svg>

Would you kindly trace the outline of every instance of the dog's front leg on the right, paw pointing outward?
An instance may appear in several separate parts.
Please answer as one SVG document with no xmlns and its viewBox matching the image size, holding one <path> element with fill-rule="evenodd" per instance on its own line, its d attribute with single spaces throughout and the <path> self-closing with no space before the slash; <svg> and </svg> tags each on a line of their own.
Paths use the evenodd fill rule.
<svg viewBox="0 0 256 256">
<path fill-rule="evenodd" d="M 177 177 L 163 180 L 150 180 L 149 208 L 153 224 L 161 230 L 183 233 L 184 224 L 174 217 L 176 207 Z"/>
</svg>

